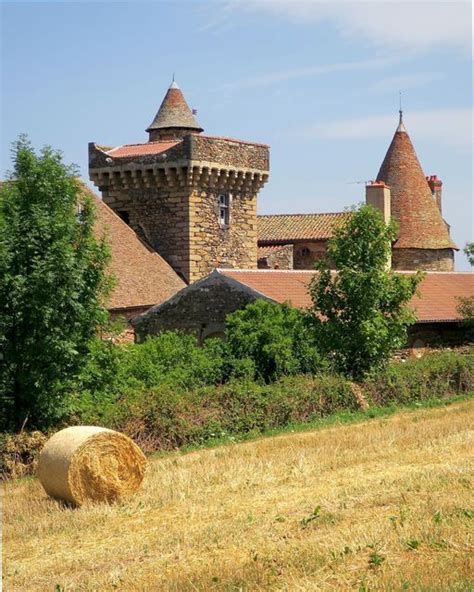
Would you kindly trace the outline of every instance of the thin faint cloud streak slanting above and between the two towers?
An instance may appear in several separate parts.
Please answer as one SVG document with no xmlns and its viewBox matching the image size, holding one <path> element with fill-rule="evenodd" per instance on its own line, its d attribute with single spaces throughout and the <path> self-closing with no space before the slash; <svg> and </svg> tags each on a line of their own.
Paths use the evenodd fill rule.
<svg viewBox="0 0 474 592">
<path fill-rule="evenodd" d="M 395 63 L 392 58 L 374 58 L 372 60 L 362 60 L 359 62 L 341 62 L 337 64 L 319 64 L 305 68 L 294 68 L 292 70 L 283 70 L 279 72 L 265 72 L 259 76 L 252 76 L 234 82 L 223 84 L 225 89 L 248 89 L 269 86 L 288 80 L 299 78 L 310 78 L 333 72 L 350 72 L 354 70 L 369 70 L 372 68 L 383 68 Z"/>
</svg>

